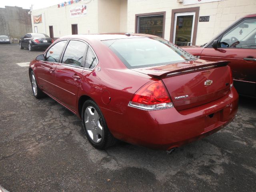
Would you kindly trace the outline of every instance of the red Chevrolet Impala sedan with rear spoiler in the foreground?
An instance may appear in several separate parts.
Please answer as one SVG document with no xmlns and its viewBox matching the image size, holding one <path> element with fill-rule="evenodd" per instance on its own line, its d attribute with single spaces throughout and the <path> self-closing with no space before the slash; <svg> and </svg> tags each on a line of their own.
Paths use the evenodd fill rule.
<svg viewBox="0 0 256 192">
<path fill-rule="evenodd" d="M 119 139 L 171 150 L 234 118 L 238 94 L 227 64 L 152 35 L 72 35 L 33 60 L 29 75 L 34 96 L 81 118 L 94 147 Z"/>
</svg>

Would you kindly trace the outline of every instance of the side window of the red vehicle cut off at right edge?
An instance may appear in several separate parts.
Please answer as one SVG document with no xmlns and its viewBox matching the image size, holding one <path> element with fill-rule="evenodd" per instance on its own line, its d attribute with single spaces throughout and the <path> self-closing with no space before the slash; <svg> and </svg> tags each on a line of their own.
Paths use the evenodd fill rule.
<svg viewBox="0 0 256 192">
<path fill-rule="evenodd" d="M 256 19 L 246 19 L 226 32 L 221 40 L 222 48 L 256 49 Z"/>
</svg>

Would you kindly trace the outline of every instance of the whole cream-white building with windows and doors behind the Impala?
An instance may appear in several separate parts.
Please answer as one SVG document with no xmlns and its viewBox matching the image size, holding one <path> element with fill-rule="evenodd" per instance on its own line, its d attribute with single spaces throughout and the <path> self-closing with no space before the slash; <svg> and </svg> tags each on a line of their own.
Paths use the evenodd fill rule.
<svg viewBox="0 0 256 192">
<path fill-rule="evenodd" d="M 204 44 L 247 14 L 256 0 L 71 0 L 32 10 L 33 32 L 68 34 L 139 32 L 178 45 Z M 42 22 L 34 23 L 34 16 Z M 36 18 L 37 19 L 37 18 Z"/>
</svg>

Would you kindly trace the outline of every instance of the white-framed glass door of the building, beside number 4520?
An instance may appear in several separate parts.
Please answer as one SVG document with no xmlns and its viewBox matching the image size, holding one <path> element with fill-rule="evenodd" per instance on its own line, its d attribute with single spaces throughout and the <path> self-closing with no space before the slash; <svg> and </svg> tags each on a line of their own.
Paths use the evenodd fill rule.
<svg viewBox="0 0 256 192">
<path fill-rule="evenodd" d="M 195 12 L 176 13 L 174 20 L 173 43 L 190 46 L 193 40 Z"/>
</svg>

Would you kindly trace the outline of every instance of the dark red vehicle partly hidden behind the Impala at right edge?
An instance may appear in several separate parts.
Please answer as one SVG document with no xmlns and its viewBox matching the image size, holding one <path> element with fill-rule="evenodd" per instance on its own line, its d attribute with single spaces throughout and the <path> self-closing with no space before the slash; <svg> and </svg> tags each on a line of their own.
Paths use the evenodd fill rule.
<svg viewBox="0 0 256 192">
<path fill-rule="evenodd" d="M 230 61 L 238 93 L 256 98 L 256 14 L 244 16 L 201 47 L 182 49 L 204 60 Z"/>
</svg>

